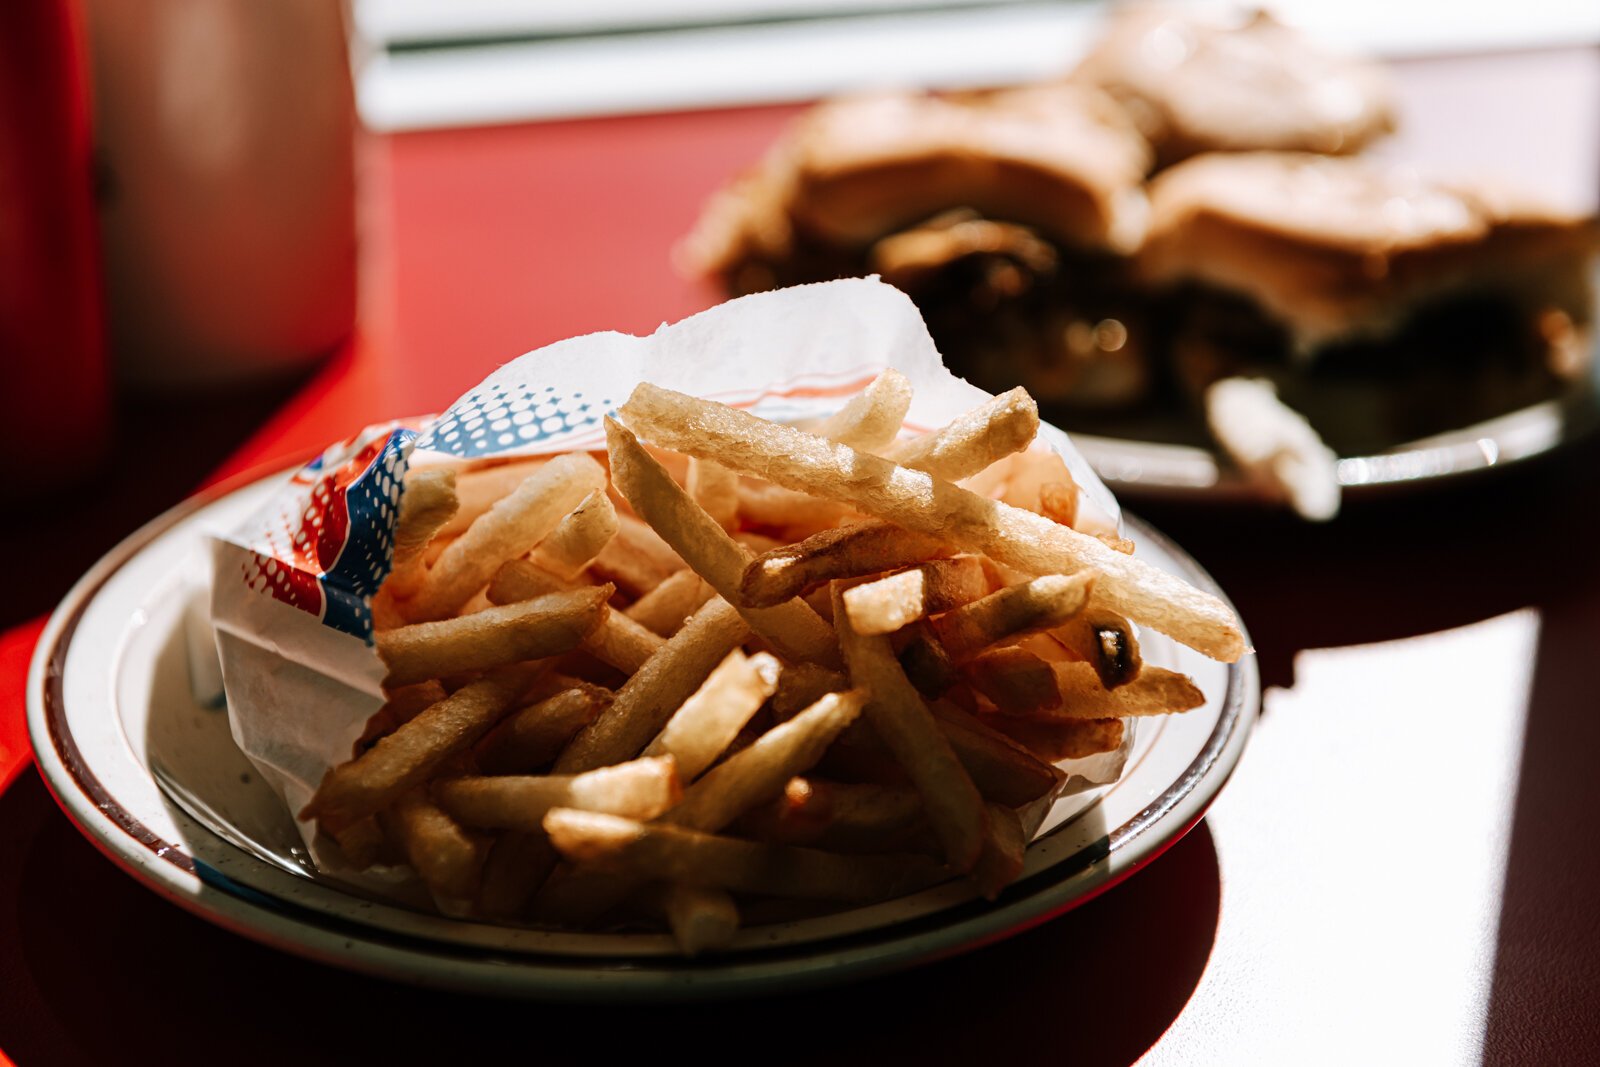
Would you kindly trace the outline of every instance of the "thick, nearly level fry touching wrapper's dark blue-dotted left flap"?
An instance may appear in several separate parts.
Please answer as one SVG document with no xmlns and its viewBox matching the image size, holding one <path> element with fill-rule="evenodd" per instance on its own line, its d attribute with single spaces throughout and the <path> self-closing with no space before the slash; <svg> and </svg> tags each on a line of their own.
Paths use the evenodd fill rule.
<svg viewBox="0 0 1600 1067">
<path fill-rule="evenodd" d="M 386 686 L 486 670 L 578 648 L 605 617 L 610 585 L 550 593 L 442 622 L 414 622 L 378 635 Z"/>
</svg>

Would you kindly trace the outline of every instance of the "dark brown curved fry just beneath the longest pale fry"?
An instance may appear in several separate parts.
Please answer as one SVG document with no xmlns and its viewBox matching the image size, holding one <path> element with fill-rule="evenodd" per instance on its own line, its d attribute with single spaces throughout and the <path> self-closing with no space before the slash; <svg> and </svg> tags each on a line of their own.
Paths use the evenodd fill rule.
<svg viewBox="0 0 1600 1067">
<path fill-rule="evenodd" d="M 782 603 L 834 577 L 877 574 L 949 552 L 938 537 L 886 522 L 824 530 L 750 560 L 739 577 L 739 600 L 758 608 Z"/>
</svg>

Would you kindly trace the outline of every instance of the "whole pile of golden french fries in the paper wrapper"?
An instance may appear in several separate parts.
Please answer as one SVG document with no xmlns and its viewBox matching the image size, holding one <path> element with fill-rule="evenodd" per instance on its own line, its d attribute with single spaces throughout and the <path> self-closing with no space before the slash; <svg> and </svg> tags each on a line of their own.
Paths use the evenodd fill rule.
<svg viewBox="0 0 1600 1067">
<path fill-rule="evenodd" d="M 451 913 L 690 955 L 957 877 L 995 897 L 1059 761 L 1203 704 L 1136 627 L 1245 648 L 1075 528 L 1026 392 L 917 437 L 909 405 L 896 371 L 803 429 L 640 386 L 603 454 L 410 472 L 387 702 L 301 819 Z"/>
</svg>

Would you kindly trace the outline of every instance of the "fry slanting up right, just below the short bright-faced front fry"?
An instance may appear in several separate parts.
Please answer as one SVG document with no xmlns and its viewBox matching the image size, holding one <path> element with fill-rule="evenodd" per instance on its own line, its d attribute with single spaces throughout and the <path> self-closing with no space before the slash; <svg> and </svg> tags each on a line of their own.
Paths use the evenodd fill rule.
<svg viewBox="0 0 1600 1067">
<path fill-rule="evenodd" d="M 866 693 L 829 693 L 787 723 L 773 726 L 706 773 L 662 819 L 696 830 L 720 830 L 741 813 L 771 800 L 811 768 L 845 726 L 861 715 Z"/>
</svg>

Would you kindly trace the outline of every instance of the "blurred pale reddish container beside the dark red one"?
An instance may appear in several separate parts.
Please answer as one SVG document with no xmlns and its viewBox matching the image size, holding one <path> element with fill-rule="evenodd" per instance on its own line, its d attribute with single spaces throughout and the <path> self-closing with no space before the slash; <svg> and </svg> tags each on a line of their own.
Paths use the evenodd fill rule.
<svg viewBox="0 0 1600 1067">
<path fill-rule="evenodd" d="M 346 5 L 85 2 L 117 378 L 243 386 L 326 355 L 355 323 Z"/>
</svg>

